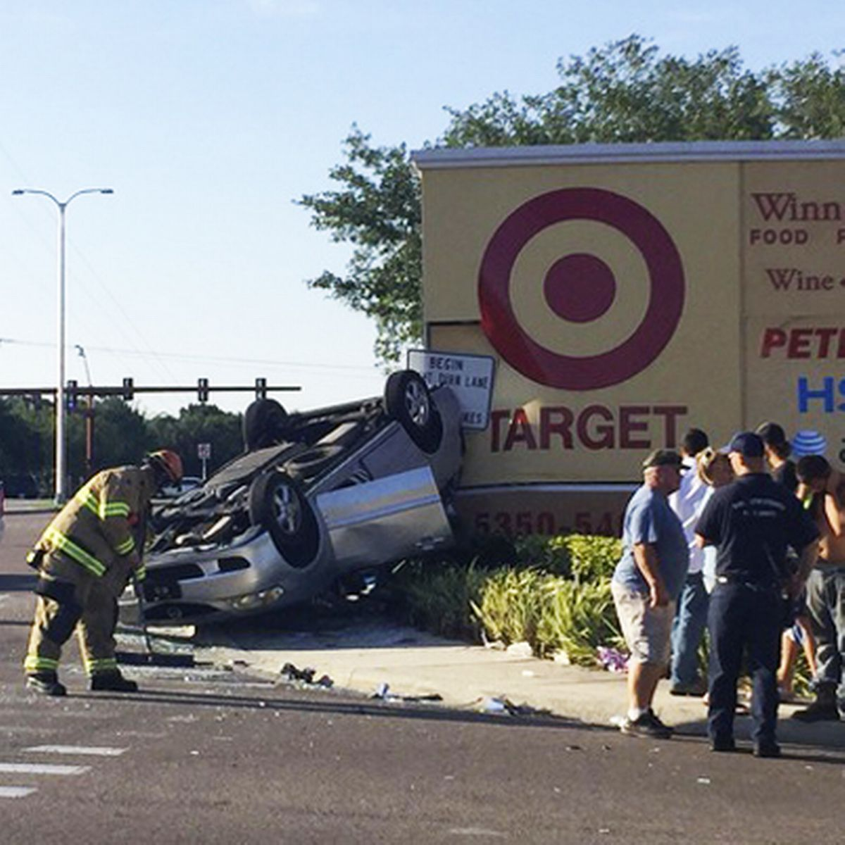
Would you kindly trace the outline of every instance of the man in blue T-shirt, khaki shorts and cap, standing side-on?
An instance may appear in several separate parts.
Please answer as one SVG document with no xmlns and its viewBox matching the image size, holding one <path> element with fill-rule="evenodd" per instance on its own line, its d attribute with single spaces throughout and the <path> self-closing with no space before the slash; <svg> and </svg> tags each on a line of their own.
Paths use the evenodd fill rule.
<svg viewBox="0 0 845 845">
<path fill-rule="evenodd" d="M 681 466 L 670 449 L 658 449 L 643 462 L 643 485 L 625 509 L 622 559 L 610 585 L 630 651 L 628 713 L 619 726 L 630 736 L 672 735 L 651 702 L 668 664 L 675 604 L 690 559 L 684 528 L 668 502 L 679 487 Z"/>
</svg>

